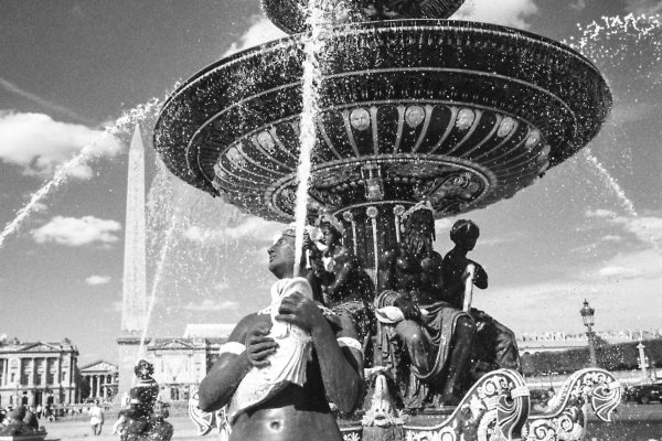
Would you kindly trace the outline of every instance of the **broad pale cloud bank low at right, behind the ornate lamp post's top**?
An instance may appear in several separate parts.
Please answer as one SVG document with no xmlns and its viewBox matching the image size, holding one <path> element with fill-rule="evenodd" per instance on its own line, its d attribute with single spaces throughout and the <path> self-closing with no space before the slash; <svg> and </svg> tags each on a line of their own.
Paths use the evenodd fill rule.
<svg viewBox="0 0 662 441">
<path fill-rule="evenodd" d="M 596 309 L 599 330 L 628 329 L 632 323 L 643 329 L 659 327 L 662 311 L 662 298 L 658 295 L 662 283 L 660 256 L 655 258 L 652 252 L 647 252 L 645 256 L 621 257 L 607 262 L 605 268 L 640 268 L 636 261 L 639 265 L 648 262 L 649 268 L 641 269 L 640 276 L 600 277 L 598 271 L 592 271 L 584 279 L 569 275 L 568 280 L 494 286 L 485 291 L 474 291 L 474 304 L 516 334 L 542 330 L 581 331 L 579 309 L 584 299 Z M 617 270 L 605 272 L 616 273 Z"/>
</svg>

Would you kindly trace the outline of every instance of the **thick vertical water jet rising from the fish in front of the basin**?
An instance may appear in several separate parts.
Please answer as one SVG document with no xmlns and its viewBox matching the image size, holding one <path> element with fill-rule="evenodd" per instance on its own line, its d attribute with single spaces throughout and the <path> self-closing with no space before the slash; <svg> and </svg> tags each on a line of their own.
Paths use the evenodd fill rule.
<svg viewBox="0 0 662 441">
<path fill-rule="evenodd" d="M 298 186 L 297 186 L 297 205 L 295 208 L 296 223 L 296 239 L 295 239 L 295 276 L 298 276 L 299 265 L 302 257 L 303 248 L 303 232 L 306 228 L 306 217 L 308 208 L 308 184 L 310 180 L 311 161 L 310 157 L 317 141 L 316 119 L 319 114 L 319 88 L 322 82 L 322 73 L 320 71 L 320 61 L 318 55 L 324 49 L 322 39 L 323 10 L 320 0 L 309 0 L 308 14 L 306 23 L 310 28 L 309 34 L 305 39 L 303 53 L 303 108 L 301 112 L 301 131 L 299 143 L 301 146 L 299 153 Z"/>
</svg>

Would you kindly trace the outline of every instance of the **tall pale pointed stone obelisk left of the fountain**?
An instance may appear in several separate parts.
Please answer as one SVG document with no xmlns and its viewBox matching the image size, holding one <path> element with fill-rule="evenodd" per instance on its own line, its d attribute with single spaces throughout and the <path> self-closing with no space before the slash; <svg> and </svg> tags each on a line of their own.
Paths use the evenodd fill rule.
<svg viewBox="0 0 662 441">
<path fill-rule="evenodd" d="M 134 379 L 140 338 L 147 319 L 147 262 L 145 217 L 145 146 L 136 125 L 129 147 L 127 179 L 127 216 L 122 277 L 121 335 L 119 345 L 119 387 L 121 397 Z"/>
</svg>

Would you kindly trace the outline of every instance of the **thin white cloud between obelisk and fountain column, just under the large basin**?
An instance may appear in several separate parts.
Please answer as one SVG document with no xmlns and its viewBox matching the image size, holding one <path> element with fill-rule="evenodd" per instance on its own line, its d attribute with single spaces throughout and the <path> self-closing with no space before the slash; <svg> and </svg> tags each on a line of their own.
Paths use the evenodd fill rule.
<svg viewBox="0 0 662 441">
<path fill-rule="evenodd" d="M 282 230 L 282 224 L 264 220 L 259 217 L 248 217 L 242 224 L 223 229 L 209 229 L 199 226 L 186 228 L 183 236 L 196 243 L 217 244 L 224 240 L 254 239 L 271 241 Z"/>
</svg>

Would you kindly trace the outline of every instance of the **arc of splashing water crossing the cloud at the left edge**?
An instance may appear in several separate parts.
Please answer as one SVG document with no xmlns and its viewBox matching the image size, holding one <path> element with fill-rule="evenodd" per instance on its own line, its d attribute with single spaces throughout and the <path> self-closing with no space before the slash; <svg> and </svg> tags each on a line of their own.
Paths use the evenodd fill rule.
<svg viewBox="0 0 662 441">
<path fill-rule="evenodd" d="M 34 213 L 35 208 L 39 207 L 39 203 L 45 198 L 52 191 L 56 190 L 62 184 L 66 183 L 71 176 L 71 173 L 78 166 L 85 165 L 92 160 L 98 159 L 98 151 L 95 147 L 107 139 L 107 137 L 119 137 L 128 135 L 137 121 L 146 119 L 149 115 L 154 114 L 160 108 L 160 100 L 152 98 L 149 101 L 136 106 L 135 108 L 127 110 L 121 117 L 119 117 L 113 127 L 106 128 L 102 131 L 98 137 L 81 150 L 78 154 L 70 159 L 67 162 L 62 164 L 55 172 L 54 176 L 46 182 L 41 189 L 34 192 L 30 196 L 30 201 L 17 213 L 17 216 L 10 220 L 2 233 L 0 234 L 0 248 L 4 244 L 7 237 L 18 232 L 23 222 Z"/>
</svg>

